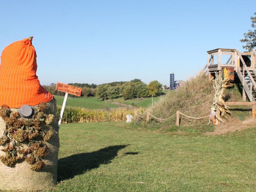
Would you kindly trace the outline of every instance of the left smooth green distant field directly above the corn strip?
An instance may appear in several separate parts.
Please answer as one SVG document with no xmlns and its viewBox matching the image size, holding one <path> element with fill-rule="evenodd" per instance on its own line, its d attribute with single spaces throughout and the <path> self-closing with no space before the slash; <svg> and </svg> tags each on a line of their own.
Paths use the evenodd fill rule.
<svg viewBox="0 0 256 192">
<path fill-rule="evenodd" d="M 62 106 L 64 96 L 54 95 L 54 98 L 56 99 L 57 104 Z M 105 108 L 118 107 L 116 104 L 106 103 L 104 101 L 98 100 L 95 97 L 88 97 L 88 98 L 68 97 L 66 105 L 70 107 L 81 107 L 81 108 L 88 108 L 88 109 L 105 109 Z"/>
</svg>

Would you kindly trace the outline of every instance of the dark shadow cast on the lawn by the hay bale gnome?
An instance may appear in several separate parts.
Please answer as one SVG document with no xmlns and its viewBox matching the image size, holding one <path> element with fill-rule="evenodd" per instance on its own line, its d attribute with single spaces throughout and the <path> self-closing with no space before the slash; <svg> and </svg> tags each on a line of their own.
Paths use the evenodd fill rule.
<svg viewBox="0 0 256 192">
<path fill-rule="evenodd" d="M 91 153 L 80 153 L 59 159 L 58 181 L 71 179 L 76 175 L 98 168 L 100 164 L 111 163 L 111 160 L 117 156 L 117 152 L 126 146 L 127 145 L 109 146 Z M 126 155 L 136 154 L 137 153 L 126 153 Z"/>
</svg>

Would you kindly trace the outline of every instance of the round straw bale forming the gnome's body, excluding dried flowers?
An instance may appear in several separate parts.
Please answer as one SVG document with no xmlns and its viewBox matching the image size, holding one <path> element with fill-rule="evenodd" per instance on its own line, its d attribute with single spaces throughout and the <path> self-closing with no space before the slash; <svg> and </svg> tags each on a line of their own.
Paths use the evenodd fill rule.
<svg viewBox="0 0 256 192">
<path fill-rule="evenodd" d="M 48 142 L 45 142 L 49 154 L 43 158 L 45 166 L 39 171 L 32 171 L 30 164 L 26 161 L 18 161 L 12 167 L 4 165 L 0 161 L 0 190 L 15 190 L 15 191 L 36 191 L 45 190 L 53 187 L 57 183 L 57 163 L 58 152 L 60 147 L 57 117 L 56 117 L 56 102 L 51 100 L 48 103 L 47 114 L 54 115 L 54 121 L 52 123 L 53 135 Z M 13 111 L 17 111 L 16 108 L 12 108 Z M 5 122 L 0 117 L 0 135 L 5 130 Z M 2 149 L 3 146 L 0 146 Z M 4 155 L 3 151 L 0 151 L 0 156 Z"/>
</svg>

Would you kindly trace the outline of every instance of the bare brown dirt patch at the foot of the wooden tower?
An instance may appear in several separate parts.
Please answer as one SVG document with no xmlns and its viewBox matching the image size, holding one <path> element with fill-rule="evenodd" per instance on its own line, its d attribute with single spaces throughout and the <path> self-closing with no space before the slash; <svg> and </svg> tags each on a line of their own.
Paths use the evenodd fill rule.
<svg viewBox="0 0 256 192">
<path fill-rule="evenodd" d="M 227 125 L 216 125 L 213 132 L 205 133 L 205 135 L 221 135 L 228 132 L 241 131 L 256 126 L 256 119 L 247 119 L 245 121 L 234 120 Z"/>
</svg>

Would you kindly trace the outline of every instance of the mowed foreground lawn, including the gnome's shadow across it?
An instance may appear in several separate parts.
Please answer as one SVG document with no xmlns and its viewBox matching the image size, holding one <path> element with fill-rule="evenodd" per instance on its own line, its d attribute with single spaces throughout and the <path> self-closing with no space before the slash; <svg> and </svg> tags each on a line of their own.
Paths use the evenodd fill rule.
<svg viewBox="0 0 256 192">
<path fill-rule="evenodd" d="M 255 191 L 256 128 L 204 136 L 128 126 L 62 124 L 52 191 Z"/>
</svg>

